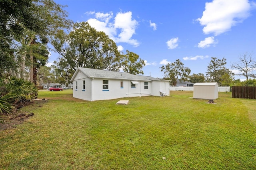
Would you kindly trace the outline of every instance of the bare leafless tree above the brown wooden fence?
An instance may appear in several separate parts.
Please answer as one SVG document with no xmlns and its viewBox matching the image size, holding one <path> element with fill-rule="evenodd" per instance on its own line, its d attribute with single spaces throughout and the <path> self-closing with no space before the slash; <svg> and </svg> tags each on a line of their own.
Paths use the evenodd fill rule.
<svg viewBox="0 0 256 170">
<path fill-rule="evenodd" d="M 236 75 L 242 75 L 246 77 L 246 80 L 249 77 L 256 77 L 256 61 L 252 58 L 252 54 L 248 54 L 247 52 L 243 55 L 240 55 L 237 63 L 233 63 L 231 68 L 237 69 L 240 73 Z"/>
</svg>

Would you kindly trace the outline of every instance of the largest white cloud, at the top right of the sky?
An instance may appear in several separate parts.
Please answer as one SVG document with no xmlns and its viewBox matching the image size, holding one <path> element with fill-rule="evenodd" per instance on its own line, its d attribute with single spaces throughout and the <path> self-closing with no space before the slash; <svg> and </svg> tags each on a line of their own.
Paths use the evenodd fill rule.
<svg viewBox="0 0 256 170">
<path fill-rule="evenodd" d="M 248 16 L 252 5 L 248 0 L 213 0 L 206 2 L 200 22 L 204 34 L 215 36 L 227 32 L 232 26 L 243 22 Z"/>
</svg>

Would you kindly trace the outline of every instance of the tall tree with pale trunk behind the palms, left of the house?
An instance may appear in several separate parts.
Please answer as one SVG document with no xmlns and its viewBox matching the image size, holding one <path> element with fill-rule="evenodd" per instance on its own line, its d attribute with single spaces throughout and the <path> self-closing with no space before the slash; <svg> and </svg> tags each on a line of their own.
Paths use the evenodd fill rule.
<svg viewBox="0 0 256 170">
<path fill-rule="evenodd" d="M 17 42 L 17 44 L 19 44 L 15 45 L 15 47 L 17 47 L 16 51 L 18 51 L 19 55 L 7 56 L 10 58 L 10 61 L 18 61 L 18 69 L 14 70 L 14 67 L 8 68 L 12 68 L 13 73 L 16 72 L 18 77 L 25 79 L 27 75 L 26 67 L 30 67 L 30 65 L 26 65 L 26 63 L 30 63 L 31 65 L 35 63 L 35 61 L 33 61 L 34 57 L 31 55 L 30 49 L 30 46 L 34 44 L 34 41 L 37 39 L 40 40 L 40 43 L 46 44 L 48 39 L 51 39 L 60 28 L 69 28 L 72 22 L 66 19 L 67 13 L 66 11 L 62 10 L 64 6 L 56 4 L 54 0 L 28 0 L 27 2 L 25 0 L 2 1 L 4 2 L 6 9 L 1 9 L 1 11 L 6 12 L 8 10 L 13 10 L 15 13 L 15 16 L 13 16 L 10 12 L 7 12 L 7 15 L 4 15 L 6 16 L 7 20 L 5 22 L 6 28 L 9 28 L 10 25 L 14 25 L 14 28 L 12 29 L 14 31 L 9 32 L 10 38 L 8 41 L 10 41 L 12 44 L 13 42 Z M 19 5 L 24 8 L 20 8 Z M 20 9 L 20 12 L 16 12 L 16 10 L 12 9 L 16 7 L 18 10 Z M 16 34 L 16 30 L 18 30 L 19 34 Z M 30 58 L 26 58 L 28 53 L 30 53 Z M 5 52 L 4 54 L 7 55 L 8 53 Z M 18 56 L 18 58 L 15 58 L 15 56 Z M 29 59 L 30 61 L 28 61 Z M 30 68 L 30 72 L 36 73 L 34 67 L 31 66 Z M 5 71 L 9 70 L 5 69 Z M 36 75 L 30 77 L 32 80 L 32 78 L 36 77 Z"/>
</svg>

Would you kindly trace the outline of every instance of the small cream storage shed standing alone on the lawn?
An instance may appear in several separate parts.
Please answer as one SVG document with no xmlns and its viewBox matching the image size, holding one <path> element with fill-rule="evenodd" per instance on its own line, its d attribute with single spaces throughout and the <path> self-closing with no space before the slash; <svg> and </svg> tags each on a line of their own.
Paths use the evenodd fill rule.
<svg viewBox="0 0 256 170">
<path fill-rule="evenodd" d="M 193 98 L 214 100 L 218 98 L 218 83 L 194 84 Z"/>
</svg>

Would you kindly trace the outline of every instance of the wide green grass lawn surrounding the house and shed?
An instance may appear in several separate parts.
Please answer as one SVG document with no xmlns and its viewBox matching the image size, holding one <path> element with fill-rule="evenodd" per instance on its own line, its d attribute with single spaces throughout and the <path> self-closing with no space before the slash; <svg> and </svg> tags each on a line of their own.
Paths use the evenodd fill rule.
<svg viewBox="0 0 256 170">
<path fill-rule="evenodd" d="M 22 108 L 34 117 L 0 131 L 0 169 L 256 169 L 256 100 L 189 97 L 116 105 L 40 91 L 46 103 Z"/>
</svg>

